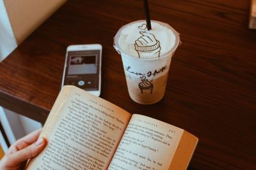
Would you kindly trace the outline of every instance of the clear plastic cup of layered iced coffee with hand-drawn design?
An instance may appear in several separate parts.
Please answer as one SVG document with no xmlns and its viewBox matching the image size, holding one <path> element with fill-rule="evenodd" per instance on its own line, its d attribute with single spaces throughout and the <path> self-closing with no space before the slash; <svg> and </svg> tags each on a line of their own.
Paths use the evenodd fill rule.
<svg viewBox="0 0 256 170">
<path fill-rule="evenodd" d="M 124 25 L 114 38 L 122 56 L 129 96 L 140 104 L 160 101 L 166 89 L 172 55 L 179 45 L 179 34 L 168 24 L 145 20 Z"/>
</svg>

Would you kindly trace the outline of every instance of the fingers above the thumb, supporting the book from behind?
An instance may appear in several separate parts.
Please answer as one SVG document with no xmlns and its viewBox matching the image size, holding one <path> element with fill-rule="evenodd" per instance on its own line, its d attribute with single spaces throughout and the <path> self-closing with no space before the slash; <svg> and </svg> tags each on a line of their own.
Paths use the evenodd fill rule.
<svg viewBox="0 0 256 170">
<path fill-rule="evenodd" d="M 42 129 L 38 129 L 34 132 L 31 132 L 27 136 L 24 136 L 23 138 L 20 138 L 17 140 L 14 145 L 10 146 L 8 153 L 14 153 L 18 152 L 19 150 L 22 150 L 23 148 L 26 148 L 27 146 L 31 145 L 32 143 L 35 143 L 36 139 L 38 139 L 38 136 L 40 135 L 40 132 Z"/>
</svg>

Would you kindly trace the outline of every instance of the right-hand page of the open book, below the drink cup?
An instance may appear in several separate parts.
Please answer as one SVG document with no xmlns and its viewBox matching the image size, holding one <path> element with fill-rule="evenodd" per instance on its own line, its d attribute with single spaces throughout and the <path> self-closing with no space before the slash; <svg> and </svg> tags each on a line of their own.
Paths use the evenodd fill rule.
<svg viewBox="0 0 256 170">
<path fill-rule="evenodd" d="M 183 129 L 132 115 L 109 169 L 168 169 Z"/>
</svg>

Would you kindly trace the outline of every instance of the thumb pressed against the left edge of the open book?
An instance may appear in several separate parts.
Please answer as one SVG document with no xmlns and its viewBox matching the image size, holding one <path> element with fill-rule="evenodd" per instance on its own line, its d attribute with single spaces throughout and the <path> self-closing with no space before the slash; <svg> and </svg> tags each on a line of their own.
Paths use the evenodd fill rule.
<svg viewBox="0 0 256 170">
<path fill-rule="evenodd" d="M 38 155 L 44 149 L 45 144 L 46 139 L 40 138 L 28 147 L 13 153 L 8 161 L 12 162 L 13 165 L 19 165 L 20 163 Z"/>
</svg>

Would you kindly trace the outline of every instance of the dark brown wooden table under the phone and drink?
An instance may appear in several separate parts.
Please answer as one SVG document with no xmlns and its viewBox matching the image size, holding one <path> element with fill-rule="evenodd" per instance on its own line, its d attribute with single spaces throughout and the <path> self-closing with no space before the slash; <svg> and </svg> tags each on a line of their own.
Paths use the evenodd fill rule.
<svg viewBox="0 0 256 170">
<path fill-rule="evenodd" d="M 0 105 L 44 122 L 60 91 L 68 45 L 103 46 L 101 97 L 186 129 L 199 138 L 189 169 L 256 169 L 256 31 L 250 1 L 150 0 L 152 19 L 182 45 L 164 99 L 143 106 L 127 92 L 113 37 L 144 18 L 142 1 L 68 1 L 0 63 Z"/>
</svg>

